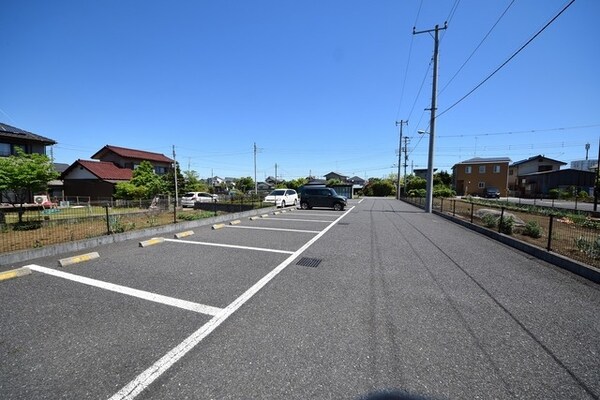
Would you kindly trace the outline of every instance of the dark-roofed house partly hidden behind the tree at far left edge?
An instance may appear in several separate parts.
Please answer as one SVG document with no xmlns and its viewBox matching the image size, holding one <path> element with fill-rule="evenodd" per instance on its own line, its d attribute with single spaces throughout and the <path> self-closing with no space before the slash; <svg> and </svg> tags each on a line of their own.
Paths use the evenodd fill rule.
<svg viewBox="0 0 600 400">
<path fill-rule="evenodd" d="M 17 148 L 25 154 L 46 154 L 46 147 L 56 144 L 52 139 L 0 123 L 0 157 L 15 155 Z M 5 197 L 7 195 L 8 197 Z M 33 202 L 34 193 L 29 194 L 27 203 Z M 12 194 L 2 193 L 0 202 L 14 200 Z"/>
</svg>

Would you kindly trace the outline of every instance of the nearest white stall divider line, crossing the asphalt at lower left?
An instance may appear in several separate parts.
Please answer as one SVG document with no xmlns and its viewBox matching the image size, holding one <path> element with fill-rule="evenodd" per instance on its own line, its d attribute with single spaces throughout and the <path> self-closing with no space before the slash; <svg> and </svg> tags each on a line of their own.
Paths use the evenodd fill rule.
<svg viewBox="0 0 600 400">
<path fill-rule="evenodd" d="M 166 304 L 168 306 L 183 308 L 184 310 L 195 311 L 213 316 L 219 315 L 223 311 L 221 308 L 207 306 L 204 304 L 192 303 L 191 301 L 175 299 L 173 297 L 167 297 L 156 293 L 145 292 L 143 290 L 133 289 L 126 286 L 115 285 L 113 283 L 86 278 L 84 276 L 69 274 L 67 272 L 57 271 L 55 269 L 46 268 L 35 264 L 28 265 L 27 267 L 32 271 L 41 272 L 47 275 L 53 275 L 59 278 L 83 283 L 84 285 L 110 290 L 112 292 L 126 294 L 128 296 L 138 297 L 140 299 L 153 301 L 155 303 L 161 303 Z"/>
</svg>

